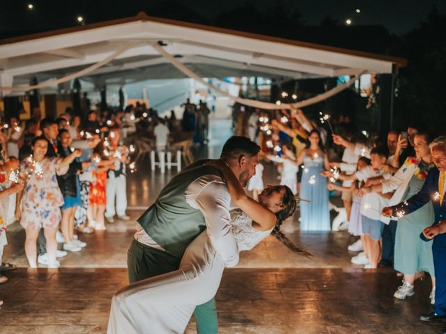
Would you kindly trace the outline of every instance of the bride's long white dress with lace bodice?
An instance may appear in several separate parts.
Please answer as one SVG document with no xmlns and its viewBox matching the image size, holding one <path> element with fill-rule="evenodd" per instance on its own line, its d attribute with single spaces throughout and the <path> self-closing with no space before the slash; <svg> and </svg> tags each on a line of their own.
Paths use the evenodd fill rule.
<svg viewBox="0 0 446 334">
<path fill-rule="evenodd" d="M 231 211 L 238 250 L 250 250 L 271 230 L 259 231 L 240 209 Z M 183 333 L 197 305 L 215 296 L 224 262 L 206 231 L 187 247 L 180 269 L 124 287 L 112 299 L 108 334 Z"/>
</svg>

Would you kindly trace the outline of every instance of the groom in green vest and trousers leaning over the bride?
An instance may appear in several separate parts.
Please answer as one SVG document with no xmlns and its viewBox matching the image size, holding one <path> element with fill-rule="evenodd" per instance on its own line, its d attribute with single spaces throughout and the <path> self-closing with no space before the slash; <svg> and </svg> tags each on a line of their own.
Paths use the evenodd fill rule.
<svg viewBox="0 0 446 334">
<path fill-rule="evenodd" d="M 259 145 L 243 136 L 232 136 L 223 146 L 221 159 L 245 186 L 259 163 Z M 229 196 L 220 173 L 206 160 L 196 161 L 164 186 L 153 205 L 139 217 L 137 232 L 128 250 L 130 283 L 175 271 L 187 246 L 206 230 L 226 267 L 238 262 L 231 232 Z M 218 332 L 215 299 L 195 308 L 198 333 Z"/>
</svg>

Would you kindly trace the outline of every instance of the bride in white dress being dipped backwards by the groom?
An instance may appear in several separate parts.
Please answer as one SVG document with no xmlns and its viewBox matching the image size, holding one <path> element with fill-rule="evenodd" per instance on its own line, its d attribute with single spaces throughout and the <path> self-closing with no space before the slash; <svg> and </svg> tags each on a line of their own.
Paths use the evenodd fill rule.
<svg viewBox="0 0 446 334">
<path fill-rule="evenodd" d="M 307 251 L 291 244 L 280 225 L 295 211 L 296 200 L 287 186 L 267 186 L 259 202 L 246 195 L 243 186 L 222 160 L 208 162 L 226 180 L 231 199 L 240 209 L 231 211 L 231 225 L 238 251 L 250 250 L 271 232 L 301 255 Z M 183 333 L 197 305 L 215 296 L 224 262 L 215 252 L 206 231 L 192 241 L 180 268 L 124 287 L 114 294 L 108 334 Z"/>
</svg>

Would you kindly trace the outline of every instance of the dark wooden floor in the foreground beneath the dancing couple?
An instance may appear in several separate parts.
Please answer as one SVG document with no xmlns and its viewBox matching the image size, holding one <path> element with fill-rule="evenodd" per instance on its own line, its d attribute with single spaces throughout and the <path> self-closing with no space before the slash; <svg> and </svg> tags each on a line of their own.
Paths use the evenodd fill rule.
<svg viewBox="0 0 446 334">
<path fill-rule="evenodd" d="M 125 269 L 18 269 L 1 287 L 0 333 L 105 333 Z M 220 333 L 442 333 L 424 324 L 429 284 L 392 298 L 387 269 L 228 269 L 217 293 Z M 446 326 L 446 325 L 445 325 Z M 195 333 L 193 320 L 187 333 Z M 125 333 L 123 333 L 125 334 Z"/>
</svg>

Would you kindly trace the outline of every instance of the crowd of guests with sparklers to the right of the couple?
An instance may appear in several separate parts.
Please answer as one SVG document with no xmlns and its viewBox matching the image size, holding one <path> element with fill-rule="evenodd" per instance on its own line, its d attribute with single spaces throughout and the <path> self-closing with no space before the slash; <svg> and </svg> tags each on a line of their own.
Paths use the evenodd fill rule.
<svg viewBox="0 0 446 334">
<path fill-rule="evenodd" d="M 429 273 L 435 308 L 420 319 L 446 317 L 446 136 L 412 124 L 383 138 L 345 117 L 324 126 L 330 116 L 322 113 L 312 120 L 300 110 L 243 111 L 234 118 L 237 132 L 261 145 L 280 183 L 299 196 L 300 230 L 330 230 L 329 197 L 340 192 L 348 232 L 358 237 L 348 246 L 359 252 L 351 262 L 394 267 L 403 280 L 396 299 L 413 296 L 415 280 Z M 254 196 L 263 189 L 263 168 L 248 185 Z"/>
</svg>

